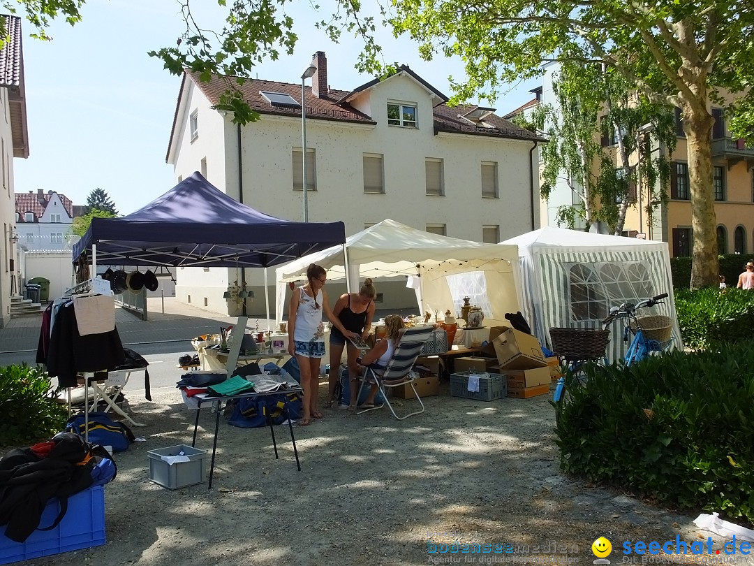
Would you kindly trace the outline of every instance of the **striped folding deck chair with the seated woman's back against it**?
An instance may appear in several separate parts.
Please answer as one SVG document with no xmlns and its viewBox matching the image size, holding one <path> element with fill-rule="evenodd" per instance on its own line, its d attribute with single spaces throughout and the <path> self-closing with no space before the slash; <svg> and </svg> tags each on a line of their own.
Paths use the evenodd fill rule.
<svg viewBox="0 0 754 566">
<path fill-rule="evenodd" d="M 361 385 L 359 387 L 357 399 L 361 398 L 361 389 L 363 388 L 365 383 L 368 383 L 370 386 L 372 385 L 372 383 L 376 383 L 379 387 L 380 392 L 382 393 L 382 398 L 385 399 L 385 403 L 376 407 L 362 409 L 361 411 L 357 411 L 357 414 L 366 413 L 367 411 L 374 411 L 375 409 L 381 409 L 385 407 L 385 404 L 388 405 L 390 412 L 395 418 L 397 418 L 397 420 L 407 419 L 408 417 L 412 417 L 415 414 L 424 413 L 424 403 L 421 402 L 421 398 L 419 397 L 418 392 L 416 392 L 416 388 L 414 386 L 414 381 L 416 380 L 416 378 L 411 377 L 409 375 L 409 372 L 411 371 L 411 368 L 413 368 L 416 358 L 419 357 L 421 348 L 432 336 L 432 331 L 433 328 L 431 326 L 406 328 L 406 331 L 403 332 L 403 336 L 401 336 L 400 340 L 398 340 L 398 344 L 395 347 L 395 351 L 393 352 L 393 357 L 390 358 L 390 361 L 388 361 L 387 368 L 383 368 L 378 364 L 366 366 L 366 372 L 361 379 Z M 380 375 L 380 373 L 382 373 L 382 375 Z M 398 417 L 398 415 L 395 414 L 395 411 L 393 410 L 393 406 L 390 404 L 390 400 L 388 399 L 388 395 L 386 394 L 385 389 L 403 387 L 404 385 L 411 386 L 414 395 L 416 395 L 416 400 L 419 401 L 419 405 L 421 405 L 421 411 L 415 411 L 413 413 L 405 415 L 404 417 Z"/>
</svg>

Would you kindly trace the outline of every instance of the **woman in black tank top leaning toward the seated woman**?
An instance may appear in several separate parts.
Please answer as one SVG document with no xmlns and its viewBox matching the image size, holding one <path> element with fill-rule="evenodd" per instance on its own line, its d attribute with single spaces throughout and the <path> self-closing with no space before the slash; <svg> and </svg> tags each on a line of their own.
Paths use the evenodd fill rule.
<svg viewBox="0 0 754 566">
<path fill-rule="evenodd" d="M 360 334 L 366 338 L 369 329 L 372 328 L 372 317 L 375 314 L 375 288 L 372 286 L 372 279 L 364 279 L 364 284 L 358 293 L 345 293 L 340 296 L 333 307 L 333 315 L 339 319 L 343 328 L 348 331 Z M 356 395 L 354 391 L 354 382 L 358 375 L 356 358 L 359 357 L 359 349 L 343 337 L 338 328 L 333 327 L 330 331 L 329 349 L 330 349 L 330 371 L 329 371 L 329 388 L 325 408 L 333 406 L 333 397 L 335 397 L 336 384 L 340 380 L 340 362 L 343 356 L 343 346 L 347 346 L 348 352 L 348 377 L 351 380 L 351 397 Z M 334 399 L 336 403 L 338 399 Z M 353 399 L 351 405 L 355 405 Z M 350 408 L 350 407 L 349 407 Z"/>
</svg>

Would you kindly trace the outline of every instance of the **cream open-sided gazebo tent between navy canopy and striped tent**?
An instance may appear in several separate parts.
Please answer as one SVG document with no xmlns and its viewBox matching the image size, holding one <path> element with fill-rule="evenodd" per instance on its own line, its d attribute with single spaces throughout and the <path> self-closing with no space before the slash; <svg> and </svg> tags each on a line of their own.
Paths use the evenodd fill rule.
<svg viewBox="0 0 754 566">
<path fill-rule="evenodd" d="M 486 326 L 506 324 L 505 313 L 521 309 L 516 246 L 449 238 L 383 220 L 346 238 L 345 253 L 342 246 L 333 246 L 278 267 L 277 321 L 287 312 L 287 281 L 305 279 L 310 263 L 327 269 L 329 280 L 347 278 L 349 291 L 357 291 L 362 278 L 407 276 L 421 312 L 456 312 L 464 294 L 486 294 L 491 311 L 486 312 Z M 448 275 L 458 274 L 470 275 L 449 282 Z"/>
</svg>

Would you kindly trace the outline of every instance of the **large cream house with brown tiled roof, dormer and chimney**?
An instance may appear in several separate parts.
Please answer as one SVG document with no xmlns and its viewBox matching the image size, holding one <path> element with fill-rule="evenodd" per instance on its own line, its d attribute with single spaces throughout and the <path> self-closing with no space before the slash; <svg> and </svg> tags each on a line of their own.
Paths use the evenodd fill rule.
<svg viewBox="0 0 754 566">
<path fill-rule="evenodd" d="M 539 227 L 534 134 L 495 109 L 447 106 L 447 97 L 407 66 L 341 91 L 329 88 L 323 52 L 313 63 L 305 88 L 308 220 L 342 220 L 351 235 L 391 218 L 495 243 Z M 260 118 L 241 127 L 213 109 L 226 84 L 183 76 L 166 157 L 176 182 L 200 171 L 246 205 L 302 220 L 301 85 L 247 81 L 241 90 Z M 245 277 L 262 283 L 259 273 Z M 234 278 L 233 269 L 179 269 L 176 297 L 225 312 L 218 297 Z M 256 300 L 253 310 L 262 305 Z M 386 300 L 380 308 L 394 305 Z"/>
</svg>

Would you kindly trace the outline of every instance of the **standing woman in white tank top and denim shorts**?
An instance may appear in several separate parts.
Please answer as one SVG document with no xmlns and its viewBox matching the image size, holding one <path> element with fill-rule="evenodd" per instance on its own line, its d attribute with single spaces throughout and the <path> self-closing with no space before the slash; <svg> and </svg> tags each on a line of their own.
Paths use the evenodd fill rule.
<svg viewBox="0 0 754 566">
<path fill-rule="evenodd" d="M 312 418 L 322 418 L 317 408 L 319 391 L 320 360 L 325 355 L 324 325 L 322 313 L 345 337 L 355 334 L 343 328 L 338 317 L 333 315 L 324 290 L 327 272 L 314 263 L 306 270 L 308 283 L 294 289 L 288 305 L 288 353 L 296 356 L 301 371 L 301 386 L 304 389 L 304 414 L 300 426 L 307 426 Z"/>
</svg>

